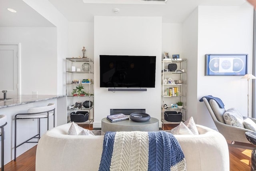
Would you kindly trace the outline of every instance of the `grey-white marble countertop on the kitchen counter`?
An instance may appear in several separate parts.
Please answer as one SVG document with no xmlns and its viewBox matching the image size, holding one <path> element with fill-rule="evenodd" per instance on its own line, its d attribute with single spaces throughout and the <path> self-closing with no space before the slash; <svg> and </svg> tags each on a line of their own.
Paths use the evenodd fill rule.
<svg viewBox="0 0 256 171">
<path fill-rule="evenodd" d="M 66 97 L 66 95 L 20 95 L 18 97 L 9 97 L 11 99 L 0 100 L 0 109 L 4 107 L 12 107 L 16 105 L 23 105 L 27 103 L 34 103 L 36 101 L 44 101 L 48 99 L 55 99 Z"/>
</svg>

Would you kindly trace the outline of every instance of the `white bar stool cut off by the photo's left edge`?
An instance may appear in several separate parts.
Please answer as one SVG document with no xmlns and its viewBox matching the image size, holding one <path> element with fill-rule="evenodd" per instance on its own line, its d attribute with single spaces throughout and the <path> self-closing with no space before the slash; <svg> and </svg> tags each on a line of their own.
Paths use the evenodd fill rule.
<svg viewBox="0 0 256 171">
<path fill-rule="evenodd" d="M 4 126 L 7 125 L 6 115 L 0 115 L 0 128 L 1 128 L 1 170 L 4 171 Z"/>
</svg>

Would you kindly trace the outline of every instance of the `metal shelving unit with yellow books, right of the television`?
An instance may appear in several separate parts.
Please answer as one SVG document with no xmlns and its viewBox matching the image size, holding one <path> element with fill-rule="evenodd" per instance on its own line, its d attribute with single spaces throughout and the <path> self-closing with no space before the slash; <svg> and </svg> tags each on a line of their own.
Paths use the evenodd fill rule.
<svg viewBox="0 0 256 171">
<path fill-rule="evenodd" d="M 177 64 L 176 71 L 168 71 L 168 64 Z M 182 113 L 182 121 L 186 120 L 186 84 L 187 84 L 187 60 L 186 59 L 163 59 L 162 60 L 162 108 L 161 120 L 162 124 L 179 124 L 180 122 L 169 122 L 164 119 L 164 111 L 180 111 Z M 181 84 L 166 84 L 164 80 L 182 80 Z M 170 88 L 178 87 L 176 95 L 169 95 L 166 91 Z M 172 108 L 172 104 L 177 101 L 183 102 L 181 109 Z M 166 106 L 164 107 L 164 104 Z"/>
</svg>

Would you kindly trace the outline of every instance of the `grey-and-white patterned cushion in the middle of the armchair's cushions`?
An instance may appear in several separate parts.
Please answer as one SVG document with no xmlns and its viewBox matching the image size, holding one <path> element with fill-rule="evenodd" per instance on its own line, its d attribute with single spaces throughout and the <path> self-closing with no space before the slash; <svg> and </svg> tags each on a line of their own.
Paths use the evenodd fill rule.
<svg viewBox="0 0 256 171">
<path fill-rule="evenodd" d="M 226 110 L 223 114 L 223 118 L 225 123 L 228 125 L 244 128 L 244 118 L 236 108 L 230 108 Z"/>
</svg>

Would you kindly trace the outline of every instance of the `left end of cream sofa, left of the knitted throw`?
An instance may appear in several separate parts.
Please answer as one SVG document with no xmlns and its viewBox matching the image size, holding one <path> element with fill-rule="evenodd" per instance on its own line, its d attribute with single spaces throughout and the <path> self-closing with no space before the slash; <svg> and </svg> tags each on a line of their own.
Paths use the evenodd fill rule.
<svg viewBox="0 0 256 171">
<path fill-rule="evenodd" d="M 104 136 L 66 135 L 71 123 L 44 134 L 36 149 L 36 171 L 98 171 Z"/>
</svg>

